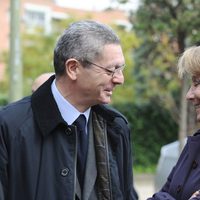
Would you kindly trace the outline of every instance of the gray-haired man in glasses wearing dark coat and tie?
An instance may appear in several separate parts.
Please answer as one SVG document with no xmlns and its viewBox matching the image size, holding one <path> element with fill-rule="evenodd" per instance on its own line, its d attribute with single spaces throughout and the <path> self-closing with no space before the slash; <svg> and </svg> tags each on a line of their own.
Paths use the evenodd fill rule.
<svg viewBox="0 0 200 200">
<path fill-rule="evenodd" d="M 137 199 L 127 120 L 105 106 L 124 63 L 108 26 L 80 21 L 64 31 L 55 76 L 0 111 L 1 199 Z"/>
</svg>

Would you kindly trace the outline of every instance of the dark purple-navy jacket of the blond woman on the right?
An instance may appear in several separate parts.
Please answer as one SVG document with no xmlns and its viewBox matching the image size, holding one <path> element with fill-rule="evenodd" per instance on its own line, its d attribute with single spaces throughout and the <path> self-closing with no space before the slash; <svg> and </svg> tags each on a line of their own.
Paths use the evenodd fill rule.
<svg viewBox="0 0 200 200">
<path fill-rule="evenodd" d="M 197 190 L 200 190 L 200 131 L 188 137 L 167 182 L 148 200 L 188 200 Z"/>
</svg>

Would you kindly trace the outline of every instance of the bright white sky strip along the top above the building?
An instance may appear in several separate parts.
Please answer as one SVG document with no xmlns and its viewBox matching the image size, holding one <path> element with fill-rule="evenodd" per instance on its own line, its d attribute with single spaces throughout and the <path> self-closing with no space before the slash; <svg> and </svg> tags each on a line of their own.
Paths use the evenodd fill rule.
<svg viewBox="0 0 200 200">
<path fill-rule="evenodd" d="M 56 0 L 59 5 L 84 9 L 84 10 L 103 10 L 107 7 L 118 7 L 115 0 Z M 129 0 L 130 3 L 121 6 L 120 8 L 125 10 L 136 10 L 139 4 L 139 0 Z"/>
</svg>

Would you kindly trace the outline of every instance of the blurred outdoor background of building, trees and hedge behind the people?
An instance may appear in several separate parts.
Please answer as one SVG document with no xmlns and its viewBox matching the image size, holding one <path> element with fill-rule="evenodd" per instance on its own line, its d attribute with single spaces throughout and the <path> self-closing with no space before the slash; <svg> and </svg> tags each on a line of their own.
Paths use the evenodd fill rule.
<svg viewBox="0 0 200 200">
<path fill-rule="evenodd" d="M 112 106 L 129 120 L 136 189 L 145 199 L 198 128 L 185 101 L 190 80 L 178 78 L 176 65 L 187 47 L 200 44 L 199 10 L 199 0 L 2 0 L 0 106 L 30 95 L 33 80 L 53 71 L 53 48 L 69 23 L 112 26 L 126 59 Z"/>
</svg>

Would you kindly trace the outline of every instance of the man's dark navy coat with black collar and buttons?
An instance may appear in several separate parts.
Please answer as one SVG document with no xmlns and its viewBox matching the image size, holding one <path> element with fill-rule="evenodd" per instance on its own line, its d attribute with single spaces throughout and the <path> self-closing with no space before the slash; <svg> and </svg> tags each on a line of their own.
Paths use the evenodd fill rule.
<svg viewBox="0 0 200 200">
<path fill-rule="evenodd" d="M 76 134 L 61 117 L 52 81 L 0 111 L 1 200 L 74 199 Z M 113 200 L 137 199 L 126 119 L 103 105 L 92 112 L 107 123 Z"/>
</svg>

